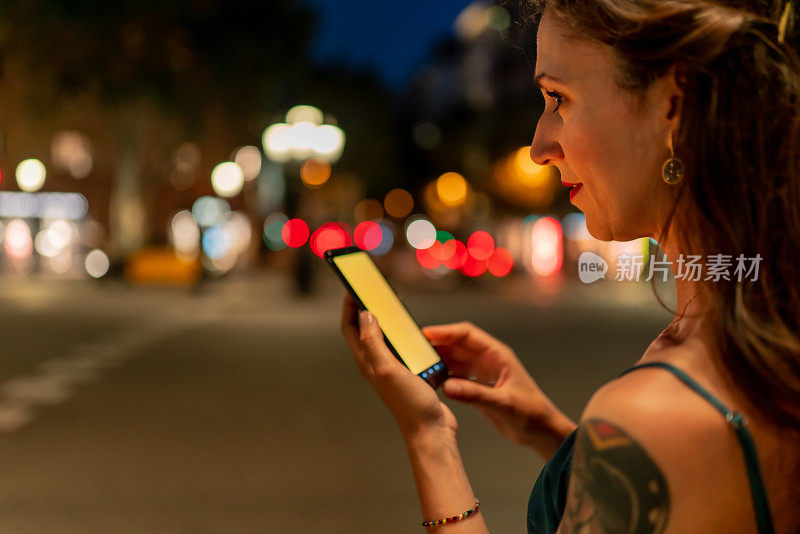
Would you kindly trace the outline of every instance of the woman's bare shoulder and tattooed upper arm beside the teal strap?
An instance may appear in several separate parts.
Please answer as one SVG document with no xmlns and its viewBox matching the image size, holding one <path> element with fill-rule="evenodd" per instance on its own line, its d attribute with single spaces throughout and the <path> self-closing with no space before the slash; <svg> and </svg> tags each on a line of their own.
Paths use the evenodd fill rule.
<svg viewBox="0 0 800 534">
<path fill-rule="evenodd" d="M 670 373 L 609 382 L 581 417 L 559 532 L 742 531 L 736 447 L 719 412 Z"/>
</svg>

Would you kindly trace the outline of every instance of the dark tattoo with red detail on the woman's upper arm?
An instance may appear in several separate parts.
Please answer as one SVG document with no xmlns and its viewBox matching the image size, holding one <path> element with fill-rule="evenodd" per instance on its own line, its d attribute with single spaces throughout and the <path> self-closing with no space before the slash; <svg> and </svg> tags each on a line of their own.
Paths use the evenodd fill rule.
<svg viewBox="0 0 800 534">
<path fill-rule="evenodd" d="M 669 516 L 667 481 L 647 451 L 602 419 L 581 424 L 575 442 L 564 534 L 658 534 Z"/>
</svg>

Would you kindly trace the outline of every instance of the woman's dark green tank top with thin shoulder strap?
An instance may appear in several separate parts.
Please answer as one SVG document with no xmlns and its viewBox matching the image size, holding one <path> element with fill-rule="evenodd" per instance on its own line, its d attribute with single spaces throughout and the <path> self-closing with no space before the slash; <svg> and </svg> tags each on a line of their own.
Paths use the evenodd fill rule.
<svg viewBox="0 0 800 534">
<path fill-rule="evenodd" d="M 747 430 L 747 421 L 744 416 L 729 410 L 719 399 L 695 382 L 689 375 L 668 363 L 649 362 L 635 365 L 625 370 L 620 376 L 643 367 L 660 367 L 670 371 L 725 416 L 725 421 L 736 433 L 744 453 L 758 534 L 773 534 L 772 516 L 769 510 L 767 492 L 761 479 L 761 469 L 758 466 L 756 445 Z M 528 501 L 528 534 L 555 534 L 556 530 L 558 530 L 567 502 L 567 484 L 569 482 L 569 470 L 572 463 L 572 451 L 575 446 L 576 433 L 577 429 L 564 440 L 536 479 Z"/>
</svg>

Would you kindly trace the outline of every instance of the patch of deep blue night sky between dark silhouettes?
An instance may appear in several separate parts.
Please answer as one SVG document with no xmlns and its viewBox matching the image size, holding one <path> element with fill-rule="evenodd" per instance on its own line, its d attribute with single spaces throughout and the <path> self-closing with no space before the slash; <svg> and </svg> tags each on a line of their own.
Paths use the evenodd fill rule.
<svg viewBox="0 0 800 534">
<path fill-rule="evenodd" d="M 319 13 L 317 60 L 345 60 L 402 87 L 470 0 L 306 0 Z"/>
</svg>

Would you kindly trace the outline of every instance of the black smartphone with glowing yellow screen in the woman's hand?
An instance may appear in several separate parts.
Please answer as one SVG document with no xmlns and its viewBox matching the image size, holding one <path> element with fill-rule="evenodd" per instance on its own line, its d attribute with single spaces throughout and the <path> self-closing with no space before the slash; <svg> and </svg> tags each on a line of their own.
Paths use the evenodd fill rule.
<svg viewBox="0 0 800 534">
<path fill-rule="evenodd" d="M 395 357 L 434 389 L 444 383 L 450 370 L 370 255 L 358 247 L 346 247 L 328 250 L 325 260 L 359 309 L 369 310 L 378 320 L 386 345 Z"/>
</svg>

